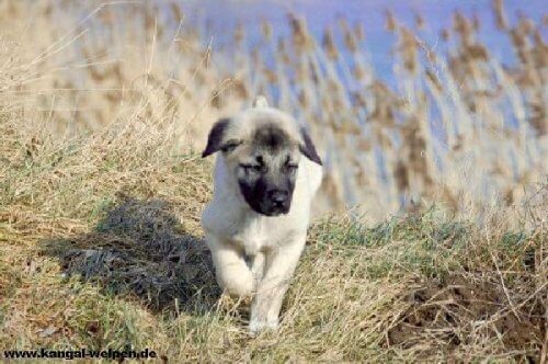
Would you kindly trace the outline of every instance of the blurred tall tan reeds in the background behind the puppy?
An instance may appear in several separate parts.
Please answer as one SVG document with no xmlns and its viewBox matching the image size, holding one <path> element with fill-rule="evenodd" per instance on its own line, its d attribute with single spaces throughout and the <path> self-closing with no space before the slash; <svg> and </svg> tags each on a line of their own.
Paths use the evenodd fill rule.
<svg viewBox="0 0 548 364">
<path fill-rule="evenodd" d="M 147 120 L 179 121 L 179 146 L 199 148 L 217 117 L 263 93 L 307 123 L 320 146 L 321 211 L 359 205 L 380 221 L 443 201 L 456 215 L 483 215 L 546 183 L 544 25 L 511 21 L 503 1 L 493 13 L 515 61 L 487 48 L 478 18 L 455 12 L 430 44 L 427 20 L 403 24 L 388 12 L 391 87 L 369 61 L 361 24 L 344 19 L 322 39 L 297 14 L 284 37 L 263 22 L 261 42 L 248 42 L 259 30 L 240 24 L 230 48 L 220 48 L 176 2 L 0 7 L 0 44 L 10 55 L 0 66 L 3 93 L 33 105 L 58 135 L 100 130 L 138 106 Z"/>
</svg>

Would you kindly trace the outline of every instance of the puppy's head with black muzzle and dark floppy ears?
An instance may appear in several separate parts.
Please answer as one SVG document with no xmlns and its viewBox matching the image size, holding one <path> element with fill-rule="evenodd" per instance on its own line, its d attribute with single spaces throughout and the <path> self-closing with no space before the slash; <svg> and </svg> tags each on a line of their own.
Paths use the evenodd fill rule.
<svg viewBox="0 0 548 364">
<path fill-rule="evenodd" d="M 307 132 L 264 99 L 213 126 L 202 157 L 217 151 L 248 205 L 266 216 L 289 212 L 301 155 L 321 164 Z"/>
</svg>

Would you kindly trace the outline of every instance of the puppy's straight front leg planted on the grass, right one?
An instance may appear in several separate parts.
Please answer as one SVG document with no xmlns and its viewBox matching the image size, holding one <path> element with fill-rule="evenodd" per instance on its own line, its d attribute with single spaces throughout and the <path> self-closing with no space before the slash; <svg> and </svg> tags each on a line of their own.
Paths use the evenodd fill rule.
<svg viewBox="0 0 548 364">
<path fill-rule="evenodd" d="M 306 236 L 266 253 L 265 273 L 251 305 L 249 330 L 277 329 L 279 309 L 305 247 Z"/>
</svg>

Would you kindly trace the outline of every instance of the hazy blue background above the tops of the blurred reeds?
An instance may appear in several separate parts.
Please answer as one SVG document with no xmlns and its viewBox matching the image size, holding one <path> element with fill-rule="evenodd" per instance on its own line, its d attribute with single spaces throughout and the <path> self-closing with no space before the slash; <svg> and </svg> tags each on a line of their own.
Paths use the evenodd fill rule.
<svg viewBox="0 0 548 364">
<path fill-rule="evenodd" d="M 536 22 L 546 14 L 546 1 L 505 1 L 511 21 L 523 12 Z M 443 47 L 439 30 L 452 24 L 452 13 L 459 10 L 465 14 L 473 14 L 481 20 L 480 38 L 487 44 L 492 56 L 502 62 L 512 64 L 513 53 L 510 39 L 495 31 L 491 0 L 289 0 L 289 1 L 251 1 L 251 0 L 189 0 L 182 1 L 187 10 L 187 20 L 192 23 L 209 23 L 207 37 L 215 46 L 230 42 L 231 29 L 237 22 L 247 25 L 248 33 L 259 34 L 261 19 L 267 19 L 275 34 L 285 34 L 287 30 L 286 13 L 296 12 L 306 18 L 310 31 L 321 35 L 327 24 L 335 25 L 336 18 L 344 15 L 350 23 L 359 22 L 366 33 L 364 48 L 373 59 L 373 64 L 381 76 L 391 72 L 392 35 L 384 29 L 385 10 L 390 9 L 406 24 L 413 26 L 414 14 L 421 13 L 426 21 L 426 29 L 420 33 L 430 46 Z M 547 27 L 543 29 L 546 38 Z M 253 35 L 252 35 L 253 36 Z"/>
</svg>

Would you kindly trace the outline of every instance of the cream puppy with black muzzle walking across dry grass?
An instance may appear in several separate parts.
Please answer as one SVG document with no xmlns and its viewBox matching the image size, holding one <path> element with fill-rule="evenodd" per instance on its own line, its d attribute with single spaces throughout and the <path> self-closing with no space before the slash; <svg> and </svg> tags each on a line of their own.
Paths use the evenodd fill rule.
<svg viewBox="0 0 548 364">
<path fill-rule="evenodd" d="M 202 215 L 217 282 L 233 296 L 253 296 L 251 332 L 276 329 L 321 160 L 306 130 L 262 96 L 213 126 L 203 157 L 217 151 L 213 201 Z"/>
</svg>

